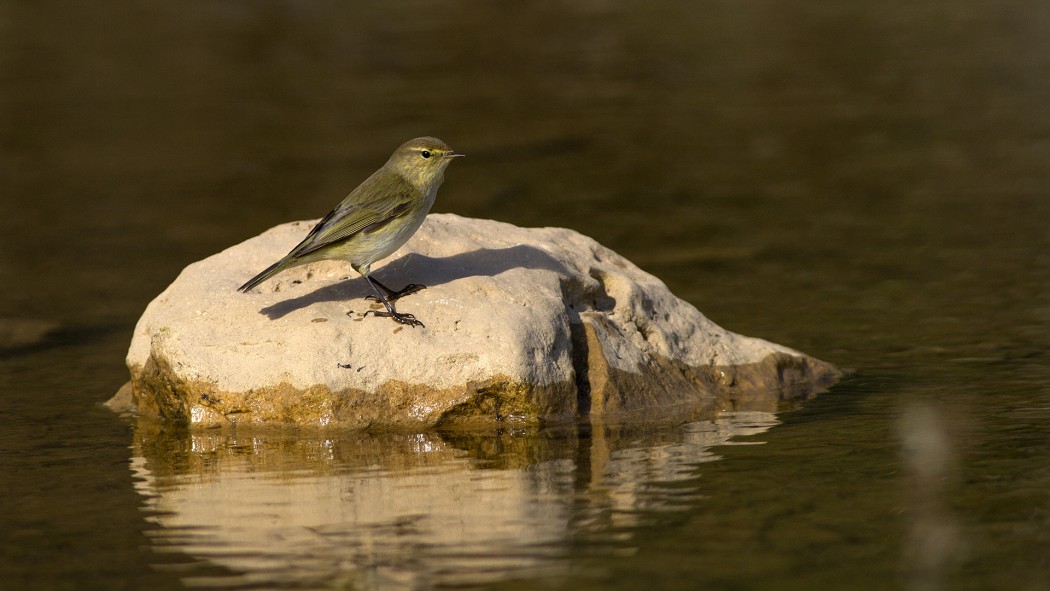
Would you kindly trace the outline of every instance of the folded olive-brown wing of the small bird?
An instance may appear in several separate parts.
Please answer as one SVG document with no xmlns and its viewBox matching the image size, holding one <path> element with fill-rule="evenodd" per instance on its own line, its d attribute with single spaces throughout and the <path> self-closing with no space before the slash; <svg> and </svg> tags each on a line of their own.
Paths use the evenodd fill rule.
<svg viewBox="0 0 1050 591">
<path fill-rule="evenodd" d="M 361 183 L 346 195 L 335 209 L 329 212 L 307 237 L 288 254 L 298 258 L 324 247 L 345 240 L 362 231 L 375 231 L 407 213 L 418 191 L 400 177 L 384 190 L 376 190 L 375 175 Z"/>
</svg>

